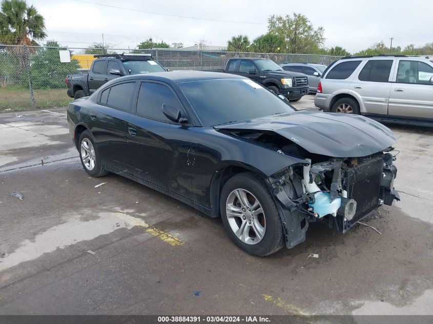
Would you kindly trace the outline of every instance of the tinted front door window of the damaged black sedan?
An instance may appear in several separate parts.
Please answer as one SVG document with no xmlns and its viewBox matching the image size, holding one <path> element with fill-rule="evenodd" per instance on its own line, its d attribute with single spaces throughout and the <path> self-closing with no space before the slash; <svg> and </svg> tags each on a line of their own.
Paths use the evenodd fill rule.
<svg viewBox="0 0 433 324">
<path fill-rule="evenodd" d="M 137 115 L 173 123 L 162 113 L 164 103 L 181 111 L 179 102 L 169 87 L 160 83 L 141 82 L 137 100 Z"/>
</svg>

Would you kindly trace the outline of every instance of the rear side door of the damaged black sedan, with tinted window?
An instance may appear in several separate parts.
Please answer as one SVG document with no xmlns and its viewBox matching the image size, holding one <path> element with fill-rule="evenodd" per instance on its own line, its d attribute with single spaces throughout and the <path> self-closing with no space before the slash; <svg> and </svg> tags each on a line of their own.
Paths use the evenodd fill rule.
<svg viewBox="0 0 433 324">
<path fill-rule="evenodd" d="M 102 91 L 97 108 L 89 110 L 91 132 L 102 163 L 114 172 L 131 172 L 126 141 L 126 120 L 132 111 L 135 81 L 126 81 Z"/>
</svg>

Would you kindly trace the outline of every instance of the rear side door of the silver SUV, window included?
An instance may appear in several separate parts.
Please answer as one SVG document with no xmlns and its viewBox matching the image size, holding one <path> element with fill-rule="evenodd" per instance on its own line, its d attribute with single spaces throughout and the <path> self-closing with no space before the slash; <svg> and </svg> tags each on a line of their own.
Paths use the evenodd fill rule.
<svg viewBox="0 0 433 324">
<path fill-rule="evenodd" d="M 361 98 L 361 113 L 387 114 L 391 71 L 394 71 L 394 67 L 394 59 L 369 59 L 361 66 L 358 76 L 349 86 L 349 93 L 353 91 Z"/>
</svg>

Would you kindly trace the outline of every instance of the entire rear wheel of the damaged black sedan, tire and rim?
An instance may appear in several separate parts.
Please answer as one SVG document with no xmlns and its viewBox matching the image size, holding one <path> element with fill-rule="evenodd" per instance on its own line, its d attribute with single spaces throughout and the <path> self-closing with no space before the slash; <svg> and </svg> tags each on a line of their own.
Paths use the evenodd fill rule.
<svg viewBox="0 0 433 324">
<path fill-rule="evenodd" d="M 100 161 L 100 157 L 95 148 L 92 133 L 84 131 L 81 133 L 78 141 L 78 152 L 80 154 L 81 164 L 86 172 L 92 177 L 102 177 L 108 174 Z"/>
</svg>

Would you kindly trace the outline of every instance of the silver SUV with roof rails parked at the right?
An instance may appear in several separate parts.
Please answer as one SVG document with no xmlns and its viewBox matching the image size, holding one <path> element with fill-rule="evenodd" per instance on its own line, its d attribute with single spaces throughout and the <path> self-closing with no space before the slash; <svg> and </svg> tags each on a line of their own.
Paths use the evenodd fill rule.
<svg viewBox="0 0 433 324">
<path fill-rule="evenodd" d="M 322 74 L 319 109 L 391 122 L 433 122 L 433 62 L 413 56 L 344 57 Z"/>
</svg>

